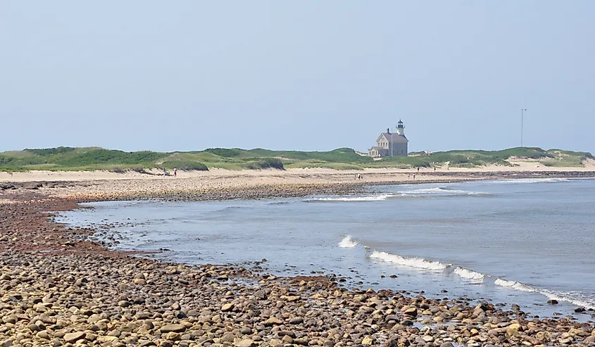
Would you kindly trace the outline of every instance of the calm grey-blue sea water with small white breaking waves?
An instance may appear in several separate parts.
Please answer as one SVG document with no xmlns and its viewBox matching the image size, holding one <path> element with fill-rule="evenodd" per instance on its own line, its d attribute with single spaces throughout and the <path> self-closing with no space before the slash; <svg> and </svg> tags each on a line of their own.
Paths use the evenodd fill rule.
<svg viewBox="0 0 595 347">
<path fill-rule="evenodd" d="M 101 226 L 123 250 L 348 287 L 515 303 L 532 315 L 595 309 L 595 180 L 515 179 L 370 187 L 354 196 L 85 204 L 59 222 Z M 132 222 L 133 224 L 130 224 Z M 128 223 L 128 224 L 126 224 Z M 396 275 L 392 278 L 391 275 Z M 384 276 L 384 278 L 382 278 Z M 549 299 L 559 301 L 549 305 Z"/>
</svg>

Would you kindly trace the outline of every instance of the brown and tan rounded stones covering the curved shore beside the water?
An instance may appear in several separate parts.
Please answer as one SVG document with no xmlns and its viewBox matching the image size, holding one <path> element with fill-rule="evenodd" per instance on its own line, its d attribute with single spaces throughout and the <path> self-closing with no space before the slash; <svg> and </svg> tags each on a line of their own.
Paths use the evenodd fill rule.
<svg viewBox="0 0 595 347">
<path fill-rule="evenodd" d="M 60 197 L 52 191 L 85 189 L 85 184 L 89 183 L 65 182 L 65 188 L 42 184 L 37 189 L 25 184 L 10 189 L 11 203 L 0 204 L 0 287 L 5 289 L 4 298 L 20 295 L 19 303 L 8 300 L 0 306 L 0 346 L 7 346 L 2 343 L 8 339 L 22 346 L 83 342 L 84 346 L 170 347 L 595 343 L 592 322 L 568 317 L 529 317 L 490 303 L 472 306 L 464 298 L 349 290 L 332 277 L 264 274 L 258 272 L 258 264 L 254 270 L 234 264 L 188 266 L 111 251 L 80 241 L 93 229 L 65 229 L 50 220 L 58 210 L 109 198 Z M 221 196 L 270 198 L 313 191 L 350 194 L 377 184 L 394 183 L 285 184 L 273 190 L 273 185 L 231 187 L 194 191 L 189 196 L 218 200 Z"/>
</svg>

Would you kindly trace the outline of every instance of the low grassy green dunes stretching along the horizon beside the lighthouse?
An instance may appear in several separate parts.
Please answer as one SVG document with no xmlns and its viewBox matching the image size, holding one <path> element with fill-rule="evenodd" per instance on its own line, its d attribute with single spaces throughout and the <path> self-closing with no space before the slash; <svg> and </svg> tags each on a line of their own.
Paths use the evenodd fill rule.
<svg viewBox="0 0 595 347">
<path fill-rule="evenodd" d="M 551 167 L 580 167 L 595 159 L 591 153 L 518 147 L 503 151 L 445 151 L 410 153 L 406 157 L 373 160 L 353 149 L 334 151 L 270 151 L 268 149 L 206 149 L 205 151 L 160 153 L 152 151 L 125 152 L 97 147 L 25 149 L 0 153 L 0 171 L 26 170 L 111 170 L 147 172 L 151 169 L 263 170 L 285 168 L 331 168 L 361 170 L 363 168 L 429 168 L 443 166 L 474 168 L 484 165 L 513 166 L 515 161 L 530 160 Z"/>
</svg>

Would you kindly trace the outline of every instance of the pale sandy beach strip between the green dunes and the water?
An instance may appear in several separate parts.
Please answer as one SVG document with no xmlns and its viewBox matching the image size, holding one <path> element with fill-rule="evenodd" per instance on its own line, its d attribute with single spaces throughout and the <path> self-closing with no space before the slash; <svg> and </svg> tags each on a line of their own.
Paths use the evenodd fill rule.
<svg viewBox="0 0 595 347">
<path fill-rule="evenodd" d="M 505 170 L 506 169 L 506 170 Z M 466 182 L 479 179 L 589 178 L 592 168 L 525 170 L 524 166 L 494 166 L 480 169 L 420 170 L 330 169 L 179 171 L 177 177 L 138 172 L 7 172 L 0 173 L 0 202 L 7 202 L 19 189 L 37 190 L 45 196 L 92 200 L 165 198 L 203 200 L 267 198 L 311 194 L 349 194 L 377 184 Z M 573 170 L 570 170 L 573 169 Z M 581 170 L 578 170 L 581 169 Z M 358 179 L 361 175 L 361 179 Z"/>
</svg>

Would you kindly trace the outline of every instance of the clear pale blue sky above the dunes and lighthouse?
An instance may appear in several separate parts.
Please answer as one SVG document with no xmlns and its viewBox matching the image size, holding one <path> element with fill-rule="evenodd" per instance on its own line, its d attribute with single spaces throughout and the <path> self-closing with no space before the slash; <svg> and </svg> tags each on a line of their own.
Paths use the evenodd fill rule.
<svg viewBox="0 0 595 347">
<path fill-rule="evenodd" d="M 595 1 L 0 1 L 0 151 L 595 152 Z M 521 109 L 527 109 L 521 117 Z"/>
</svg>

